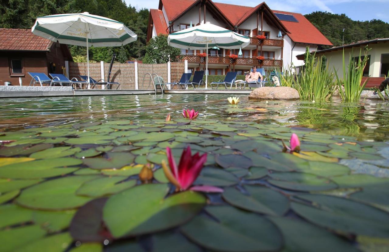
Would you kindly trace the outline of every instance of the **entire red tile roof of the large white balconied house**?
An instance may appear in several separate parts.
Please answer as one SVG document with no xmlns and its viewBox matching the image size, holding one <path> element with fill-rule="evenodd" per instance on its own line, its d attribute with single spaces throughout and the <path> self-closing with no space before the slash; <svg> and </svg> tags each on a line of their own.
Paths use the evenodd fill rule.
<svg viewBox="0 0 389 252">
<path fill-rule="evenodd" d="M 195 4 L 197 0 L 161 0 L 161 2 L 165 7 L 169 21 L 172 21 L 180 14 L 182 14 L 182 12 L 189 9 L 189 7 Z M 228 20 L 230 20 L 233 25 L 238 25 L 241 21 L 250 16 L 252 12 L 258 9 L 259 5 L 262 4 L 260 3 L 256 7 L 247 7 L 228 3 L 213 3 L 220 10 L 220 12 L 223 13 Z M 298 20 L 298 22 L 281 21 L 281 23 L 290 32 L 288 33 L 288 36 L 294 42 L 328 46 L 332 45 L 332 43 L 319 30 L 317 30 L 317 28 L 312 25 L 312 23 L 310 23 L 308 19 L 306 19 L 302 14 L 281 10 L 273 10 L 273 12 L 293 15 Z M 154 25 L 156 25 L 155 21 Z"/>
</svg>

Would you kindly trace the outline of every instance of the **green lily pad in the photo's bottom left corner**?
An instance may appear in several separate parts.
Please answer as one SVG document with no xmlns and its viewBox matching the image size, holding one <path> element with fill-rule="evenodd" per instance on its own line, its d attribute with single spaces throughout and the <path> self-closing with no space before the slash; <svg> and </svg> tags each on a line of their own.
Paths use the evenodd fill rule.
<svg viewBox="0 0 389 252">
<path fill-rule="evenodd" d="M 46 232 L 38 225 L 2 230 L 0 231 L 0 240 L 7 242 L 2 244 L 1 251 L 15 251 L 15 249 L 18 249 L 30 242 L 34 242 L 45 235 Z"/>
</svg>

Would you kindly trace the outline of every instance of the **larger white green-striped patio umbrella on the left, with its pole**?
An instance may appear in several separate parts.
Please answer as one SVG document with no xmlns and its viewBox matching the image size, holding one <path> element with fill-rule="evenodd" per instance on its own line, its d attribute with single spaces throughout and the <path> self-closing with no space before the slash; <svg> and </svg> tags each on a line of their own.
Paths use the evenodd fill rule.
<svg viewBox="0 0 389 252">
<path fill-rule="evenodd" d="M 61 44 L 86 46 L 88 83 L 90 46 L 123 46 L 137 40 L 123 23 L 88 12 L 38 17 L 32 33 Z"/>
</svg>

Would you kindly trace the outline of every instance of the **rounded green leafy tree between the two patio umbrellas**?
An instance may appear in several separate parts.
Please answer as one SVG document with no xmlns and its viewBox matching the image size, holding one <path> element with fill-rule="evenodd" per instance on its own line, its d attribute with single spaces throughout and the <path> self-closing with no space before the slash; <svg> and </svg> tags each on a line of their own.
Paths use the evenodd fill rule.
<svg viewBox="0 0 389 252">
<path fill-rule="evenodd" d="M 159 34 L 149 40 L 146 46 L 146 54 L 143 59 L 144 63 L 160 64 L 168 61 L 176 62 L 181 57 L 181 50 L 179 48 L 168 45 L 167 36 Z"/>
</svg>

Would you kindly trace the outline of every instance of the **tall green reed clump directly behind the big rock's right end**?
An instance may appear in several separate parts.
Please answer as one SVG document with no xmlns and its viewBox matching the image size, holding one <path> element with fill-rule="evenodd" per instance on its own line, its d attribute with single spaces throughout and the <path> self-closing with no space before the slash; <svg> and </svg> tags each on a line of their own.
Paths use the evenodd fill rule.
<svg viewBox="0 0 389 252">
<path fill-rule="evenodd" d="M 315 58 L 307 50 L 305 65 L 300 73 L 286 71 L 282 76 L 283 86 L 297 89 L 302 100 L 329 100 L 338 88 L 333 81 L 334 73 L 329 72 L 328 62 L 323 64 L 322 57 Z"/>
</svg>

